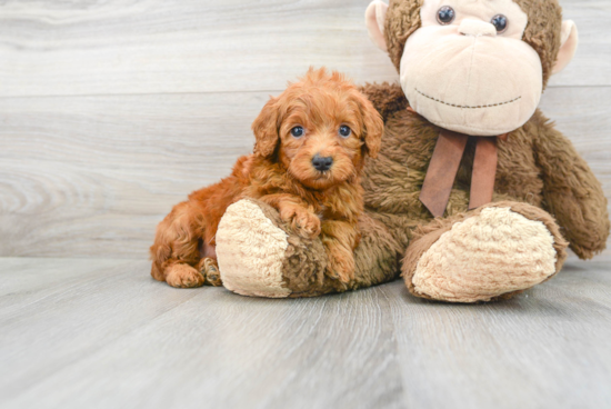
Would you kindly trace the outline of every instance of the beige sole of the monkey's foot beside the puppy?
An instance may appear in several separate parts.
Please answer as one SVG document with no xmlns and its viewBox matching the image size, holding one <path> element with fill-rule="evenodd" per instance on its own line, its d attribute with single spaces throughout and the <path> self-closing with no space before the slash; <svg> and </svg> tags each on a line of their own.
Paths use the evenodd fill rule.
<svg viewBox="0 0 611 409">
<path fill-rule="evenodd" d="M 223 286 L 242 296 L 284 298 L 282 262 L 289 242 L 254 202 L 231 205 L 217 231 L 217 257 Z"/>
</svg>

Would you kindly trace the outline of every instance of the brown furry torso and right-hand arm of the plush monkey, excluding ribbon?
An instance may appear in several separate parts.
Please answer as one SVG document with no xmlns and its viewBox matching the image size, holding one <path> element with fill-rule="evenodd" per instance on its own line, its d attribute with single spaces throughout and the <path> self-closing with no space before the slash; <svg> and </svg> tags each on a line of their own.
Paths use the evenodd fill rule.
<svg viewBox="0 0 611 409">
<path fill-rule="evenodd" d="M 405 226 L 431 219 L 419 196 L 440 129 L 407 110 L 389 114 L 390 107 L 401 103 L 385 96 L 398 90 L 399 86 L 388 83 L 363 88 L 373 104 L 387 113 L 384 143 L 379 158 L 365 167 L 363 186 L 367 206 L 375 209 L 377 218 L 391 230 L 397 229 L 395 237 L 407 247 L 411 233 L 404 233 Z M 404 96 L 401 99 L 407 103 Z M 474 143 L 470 141 L 450 194 L 448 216 L 467 210 L 473 154 Z M 572 143 L 539 110 L 510 132 L 507 141 L 499 141 L 493 201 L 500 200 L 548 210 L 571 249 L 583 259 L 605 248 L 610 225 L 601 184 Z"/>
</svg>

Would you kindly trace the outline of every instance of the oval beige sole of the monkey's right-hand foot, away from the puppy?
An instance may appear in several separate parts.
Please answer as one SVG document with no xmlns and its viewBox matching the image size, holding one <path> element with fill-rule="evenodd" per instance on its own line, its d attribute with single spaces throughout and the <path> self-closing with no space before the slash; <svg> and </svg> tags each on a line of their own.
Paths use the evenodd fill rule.
<svg viewBox="0 0 611 409">
<path fill-rule="evenodd" d="M 454 302 L 488 301 L 544 281 L 555 272 L 550 231 L 509 208 L 485 208 L 457 222 L 420 258 L 414 291 Z"/>
</svg>

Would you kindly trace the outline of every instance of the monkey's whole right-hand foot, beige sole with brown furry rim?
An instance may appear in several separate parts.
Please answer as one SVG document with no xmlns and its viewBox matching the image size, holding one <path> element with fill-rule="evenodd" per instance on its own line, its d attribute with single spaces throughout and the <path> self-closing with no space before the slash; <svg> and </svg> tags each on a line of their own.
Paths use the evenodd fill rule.
<svg viewBox="0 0 611 409">
<path fill-rule="evenodd" d="M 422 298 L 504 299 L 555 275 L 565 248 L 544 210 L 510 201 L 490 203 L 418 229 L 402 276 L 410 292 Z"/>
</svg>

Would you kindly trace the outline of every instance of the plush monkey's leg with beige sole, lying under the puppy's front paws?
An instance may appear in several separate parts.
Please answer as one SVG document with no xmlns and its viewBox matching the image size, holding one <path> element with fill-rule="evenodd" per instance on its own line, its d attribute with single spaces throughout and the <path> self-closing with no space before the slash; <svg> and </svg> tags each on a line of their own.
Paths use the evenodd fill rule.
<svg viewBox="0 0 611 409">
<path fill-rule="evenodd" d="M 398 246 L 384 226 L 363 215 L 355 249 L 354 278 L 328 277 L 328 258 L 319 237 L 290 233 L 276 209 L 246 199 L 230 206 L 217 231 L 221 279 L 243 296 L 313 297 L 387 282 L 397 277 Z"/>
</svg>

